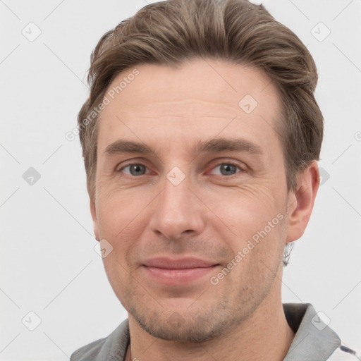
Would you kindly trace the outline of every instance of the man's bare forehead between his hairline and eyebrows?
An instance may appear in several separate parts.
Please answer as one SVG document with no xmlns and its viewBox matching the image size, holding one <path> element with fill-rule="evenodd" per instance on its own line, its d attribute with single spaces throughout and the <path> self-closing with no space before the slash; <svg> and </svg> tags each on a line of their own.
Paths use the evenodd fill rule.
<svg viewBox="0 0 361 361">
<path fill-rule="evenodd" d="M 154 147 L 192 145 L 200 138 L 242 135 L 269 147 L 278 142 L 280 99 L 257 68 L 195 59 L 180 68 L 143 64 L 118 74 L 99 116 L 98 149 L 118 138 Z M 131 75 L 137 74 L 137 75 Z M 194 143 L 193 142 L 193 143 Z"/>
</svg>

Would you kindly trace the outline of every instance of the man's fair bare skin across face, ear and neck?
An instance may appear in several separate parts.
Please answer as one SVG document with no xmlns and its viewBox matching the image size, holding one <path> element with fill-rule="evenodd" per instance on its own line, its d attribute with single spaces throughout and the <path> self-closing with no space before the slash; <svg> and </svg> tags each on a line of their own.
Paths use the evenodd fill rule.
<svg viewBox="0 0 361 361">
<path fill-rule="evenodd" d="M 137 69 L 101 113 L 90 200 L 94 233 L 113 247 L 104 257 L 106 274 L 128 311 L 127 359 L 283 360 L 294 336 L 281 303 L 283 247 L 310 219 L 317 163 L 288 192 L 276 132 L 279 94 L 263 72 L 211 59 Z M 246 94 L 258 103 L 250 114 L 238 106 Z M 220 137 L 247 140 L 261 154 L 192 150 Z M 104 152 L 117 140 L 140 142 L 155 154 Z M 229 163 L 235 167 L 225 173 L 222 164 Z M 185 176 L 178 185 L 166 177 L 173 167 Z M 283 219 L 213 285 L 211 276 L 277 214 Z M 142 267 L 161 256 L 218 265 L 200 279 L 167 286 Z"/>
</svg>

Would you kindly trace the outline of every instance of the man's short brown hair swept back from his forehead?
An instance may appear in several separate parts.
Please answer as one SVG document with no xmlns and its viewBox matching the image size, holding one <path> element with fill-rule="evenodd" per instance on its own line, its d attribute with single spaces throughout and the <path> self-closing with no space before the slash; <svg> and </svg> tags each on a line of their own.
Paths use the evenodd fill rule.
<svg viewBox="0 0 361 361">
<path fill-rule="evenodd" d="M 259 68 L 279 90 L 277 123 L 288 190 L 295 176 L 319 160 L 322 113 L 314 99 L 317 68 L 310 52 L 262 5 L 247 0 L 169 0 L 149 4 L 106 32 L 92 52 L 90 96 L 78 114 L 87 190 L 95 197 L 97 112 L 118 73 L 145 63 L 181 66 L 194 58 L 222 59 Z"/>
</svg>

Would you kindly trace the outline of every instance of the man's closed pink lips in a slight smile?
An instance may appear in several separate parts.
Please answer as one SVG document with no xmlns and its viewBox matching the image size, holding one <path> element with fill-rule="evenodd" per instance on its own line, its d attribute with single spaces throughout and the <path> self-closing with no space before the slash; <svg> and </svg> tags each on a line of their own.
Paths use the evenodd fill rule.
<svg viewBox="0 0 361 361">
<path fill-rule="evenodd" d="M 147 259 L 142 264 L 142 268 L 152 281 L 168 286 L 191 283 L 202 279 L 214 271 L 217 266 L 219 266 L 218 263 L 190 257 L 182 259 L 159 257 Z"/>
</svg>

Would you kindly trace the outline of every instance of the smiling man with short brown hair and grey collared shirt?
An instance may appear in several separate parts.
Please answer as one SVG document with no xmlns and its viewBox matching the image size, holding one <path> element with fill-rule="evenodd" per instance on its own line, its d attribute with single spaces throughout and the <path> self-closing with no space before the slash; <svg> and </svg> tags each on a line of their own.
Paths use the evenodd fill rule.
<svg viewBox="0 0 361 361">
<path fill-rule="evenodd" d="M 128 319 L 71 360 L 357 360 L 281 302 L 323 134 L 300 39 L 247 1 L 164 1 L 100 39 L 89 80 L 90 209 Z"/>
</svg>

